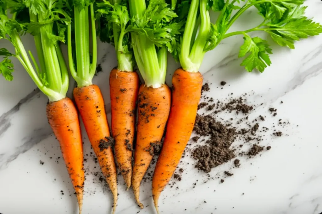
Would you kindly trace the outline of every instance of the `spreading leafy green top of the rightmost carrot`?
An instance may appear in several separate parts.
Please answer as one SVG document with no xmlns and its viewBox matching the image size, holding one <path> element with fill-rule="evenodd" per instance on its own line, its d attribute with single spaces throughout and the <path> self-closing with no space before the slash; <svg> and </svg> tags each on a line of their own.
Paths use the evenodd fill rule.
<svg viewBox="0 0 322 214">
<path fill-rule="evenodd" d="M 239 57 L 245 57 L 243 66 L 249 72 L 263 72 L 271 64 L 272 54 L 268 42 L 251 37 L 252 31 L 265 31 L 275 43 L 294 49 L 294 42 L 322 32 L 322 26 L 305 16 L 304 0 L 178 0 L 176 13 L 179 20 L 186 20 L 181 43 L 174 52 L 184 70 L 197 72 L 204 54 L 215 48 L 223 39 L 243 35 L 244 44 Z M 242 6 L 239 6 L 242 5 Z M 251 7 L 256 7 L 262 22 L 251 29 L 227 33 L 232 24 Z M 189 13 L 187 14 L 187 11 Z M 219 13 L 211 23 L 209 11 Z M 185 18 L 187 16 L 187 18 Z M 259 17 L 260 18 L 260 17 Z M 197 30 L 199 28 L 199 32 Z"/>
</svg>

